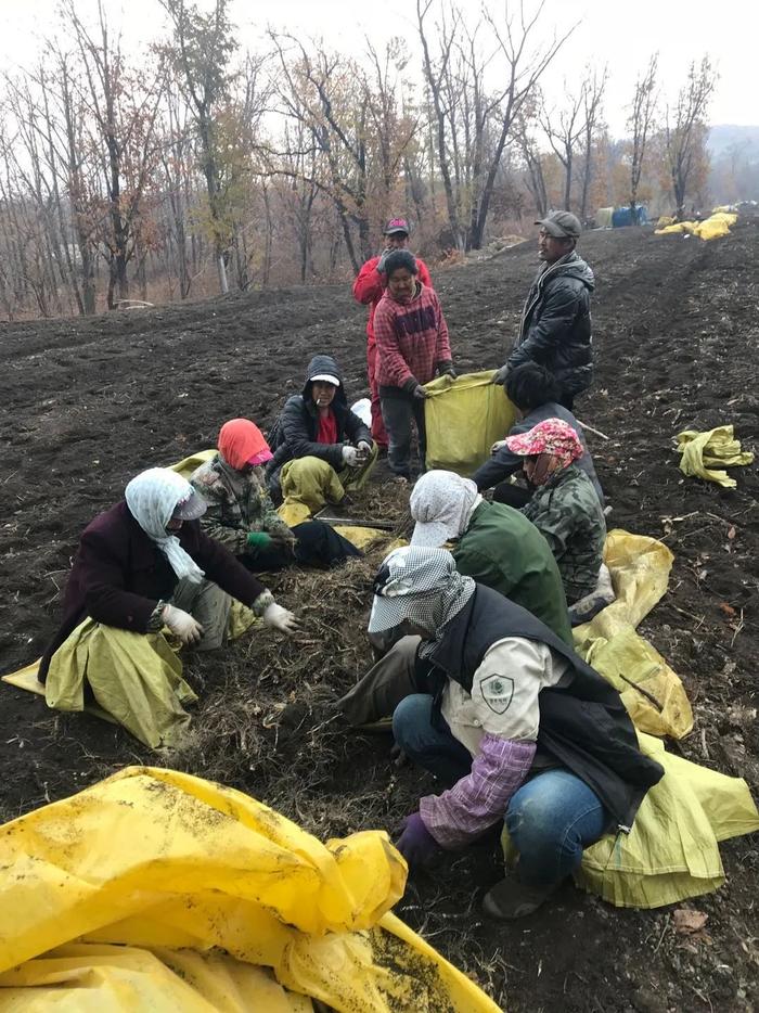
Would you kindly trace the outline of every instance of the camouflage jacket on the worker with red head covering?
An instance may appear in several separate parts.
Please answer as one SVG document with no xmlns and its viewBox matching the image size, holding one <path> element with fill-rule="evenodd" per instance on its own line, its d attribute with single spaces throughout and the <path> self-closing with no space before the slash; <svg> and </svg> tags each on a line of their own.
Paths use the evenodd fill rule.
<svg viewBox="0 0 759 1013">
<path fill-rule="evenodd" d="M 274 509 L 262 467 L 242 475 L 217 453 L 193 472 L 190 482 L 208 505 L 201 527 L 235 555 L 247 551 L 248 531 L 295 537 Z"/>
</svg>

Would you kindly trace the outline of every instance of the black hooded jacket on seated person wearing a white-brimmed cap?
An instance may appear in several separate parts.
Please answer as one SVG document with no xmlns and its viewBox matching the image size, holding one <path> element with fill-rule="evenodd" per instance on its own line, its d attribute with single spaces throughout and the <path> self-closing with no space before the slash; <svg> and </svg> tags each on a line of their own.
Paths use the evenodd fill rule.
<svg viewBox="0 0 759 1013">
<path fill-rule="evenodd" d="M 332 410 L 337 422 L 337 443 L 318 444 L 319 409 L 311 397 L 311 381 L 314 376 L 327 374 L 339 380 L 339 386 L 332 401 Z M 314 356 L 306 371 L 303 394 L 295 394 L 287 399 L 282 414 L 269 434 L 269 446 L 274 457 L 266 470 L 267 482 L 272 492 L 279 489 L 279 474 L 283 464 L 294 458 L 321 458 L 335 471 L 343 469 L 343 445 L 356 444 L 365 439 L 372 443 L 372 434 L 358 415 L 348 407 L 348 399 L 343 386 L 343 374 L 332 356 Z"/>
</svg>

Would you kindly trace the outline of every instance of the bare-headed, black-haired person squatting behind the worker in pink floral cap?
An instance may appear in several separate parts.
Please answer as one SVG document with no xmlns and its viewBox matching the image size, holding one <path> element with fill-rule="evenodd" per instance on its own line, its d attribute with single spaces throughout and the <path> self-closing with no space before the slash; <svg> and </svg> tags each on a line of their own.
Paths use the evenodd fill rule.
<svg viewBox="0 0 759 1013">
<path fill-rule="evenodd" d="M 595 473 L 588 444 L 582 435 L 582 426 L 569 409 L 559 403 L 562 392 L 555 376 L 549 373 L 544 366 L 525 362 L 524 366 L 517 366 L 515 370 L 509 371 L 503 386 L 506 397 L 516 408 L 519 420 L 506 435 L 518 436 L 519 433 L 527 433 L 546 419 L 561 419 L 566 422 L 577 433 L 582 444 L 582 457 L 578 458 L 577 466 L 581 467 L 593 483 L 595 495 L 603 506 L 604 492 Z M 524 486 L 509 482 L 511 475 L 522 472 L 524 459 L 509 449 L 505 438 L 497 440 L 490 453 L 490 460 L 477 469 L 472 480 L 480 492 L 492 489 L 494 486 L 492 498 L 496 502 L 509 503 L 510 506 L 524 506 L 535 489 L 530 486 L 524 488 Z"/>
</svg>

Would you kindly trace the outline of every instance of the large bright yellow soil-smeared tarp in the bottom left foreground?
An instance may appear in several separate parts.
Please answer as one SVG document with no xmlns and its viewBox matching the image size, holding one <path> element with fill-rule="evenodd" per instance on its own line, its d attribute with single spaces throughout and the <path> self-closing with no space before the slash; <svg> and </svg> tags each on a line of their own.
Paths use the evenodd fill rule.
<svg viewBox="0 0 759 1013">
<path fill-rule="evenodd" d="M 0 1009 L 498 1010 L 389 913 L 384 832 L 322 845 L 189 774 L 130 767 L 7 823 L 0 869 Z"/>
</svg>

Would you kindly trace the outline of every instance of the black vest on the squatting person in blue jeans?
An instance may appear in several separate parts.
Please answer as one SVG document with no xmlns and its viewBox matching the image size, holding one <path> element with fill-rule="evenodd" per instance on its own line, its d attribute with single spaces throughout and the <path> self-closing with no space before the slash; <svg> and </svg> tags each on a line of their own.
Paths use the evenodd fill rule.
<svg viewBox="0 0 759 1013">
<path fill-rule="evenodd" d="M 619 693 L 544 623 L 481 584 L 422 663 L 434 666 L 427 684 L 437 678 L 434 714 L 439 714 L 446 680 L 471 693 L 488 650 L 509 637 L 545 644 L 569 663 L 558 683 L 540 692 L 538 751 L 584 781 L 619 829 L 628 831 L 664 769 L 641 753 Z"/>
</svg>

